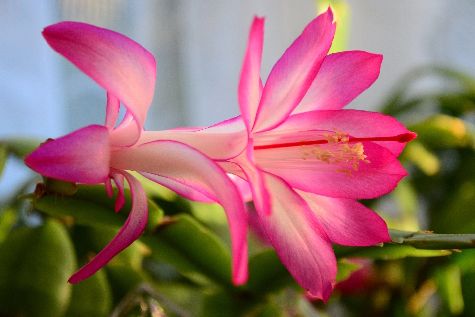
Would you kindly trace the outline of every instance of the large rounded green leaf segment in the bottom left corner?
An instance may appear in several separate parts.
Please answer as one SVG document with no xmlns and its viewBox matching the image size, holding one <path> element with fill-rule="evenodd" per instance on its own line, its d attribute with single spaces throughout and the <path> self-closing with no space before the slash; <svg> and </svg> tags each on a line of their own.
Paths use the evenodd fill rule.
<svg viewBox="0 0 475 317">
<path fill-rule="evenodd" d="M 71 295 L 67 280 L 75 266 L 73 245 L 58 221 L 12 230 L 0 245 L 0 312 L 62 316 Z"/>
</svg>

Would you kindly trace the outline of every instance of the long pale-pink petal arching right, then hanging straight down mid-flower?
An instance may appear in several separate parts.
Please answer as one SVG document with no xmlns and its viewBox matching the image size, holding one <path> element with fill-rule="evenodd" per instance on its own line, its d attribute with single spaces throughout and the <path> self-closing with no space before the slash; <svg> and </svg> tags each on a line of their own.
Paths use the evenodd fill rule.
<svg viewBox="0 0 475 317">
<path fill-rule="evenodd" d="M 230 224 L 233 283 L 246 282 L 247 214 L 238 189 L 213 160 L 180 142 L 155 141 L 113 152 L 111 166 L 170 178 L 221 204 Z"/>
</svg>

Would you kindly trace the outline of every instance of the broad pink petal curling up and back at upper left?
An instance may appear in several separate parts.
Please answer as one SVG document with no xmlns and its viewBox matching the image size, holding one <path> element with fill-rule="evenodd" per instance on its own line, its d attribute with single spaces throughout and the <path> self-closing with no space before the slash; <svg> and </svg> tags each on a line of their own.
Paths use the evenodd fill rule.
<svg viewBox="0 0 475 317">
<path fill-rule="evenodd" d="M 48 44 L 85 72 L 130 111 L 136 124 L 122 139 L 132 145 L 140 135 L 155 89 L 155 58 L 140 44 L 117 32 L 80 22 L 64 21 L 46 27 Z M 135 139 L 135 140 L 134 140 Z"/>
</svg>

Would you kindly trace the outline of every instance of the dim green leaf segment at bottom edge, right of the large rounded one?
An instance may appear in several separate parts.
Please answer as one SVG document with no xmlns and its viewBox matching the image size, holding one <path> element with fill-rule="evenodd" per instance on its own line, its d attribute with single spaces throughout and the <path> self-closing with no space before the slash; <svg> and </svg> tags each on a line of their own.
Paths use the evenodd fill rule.
<svg viewBox="0 0 475 317">
<path fill-rule="evenodd" d="M 65 317 L 106 317 L 112 307 L 112 291 L 104 269 L 73 284 L 71 302 Z"/>
</svg>

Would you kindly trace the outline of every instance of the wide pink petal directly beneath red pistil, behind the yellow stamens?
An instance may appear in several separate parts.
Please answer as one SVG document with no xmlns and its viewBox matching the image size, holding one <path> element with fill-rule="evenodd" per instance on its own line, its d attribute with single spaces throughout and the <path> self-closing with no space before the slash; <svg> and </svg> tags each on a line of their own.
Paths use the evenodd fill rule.
<svg viewBox="0 0 475 317">
<path fill-rule="evenodd" d="M 283 178 L 293 188 L 334 198 L 370 199 L 393 190 L 407 175 L 397 158 L 386 148 L 373 142 L 361 142 L 364 160 L 338 158 L 343 145 L 321 145 L 319 148 L 291 147 L 256 150 L 258 166 Z M 352 148 L 356 143 L 349 143 Z M 312 151 L 321 151 L 314 153 Z M 318 156 L 329 151 L 329 161 Z M 343 154 L 346 156 L 347 154 Z M 369 163 L 365 163 L 365 161 Z M 335 162 L 335 163 L 333 163 Z M 337 162 L 337 163 L 336 163 Z M 356 164 L 356 165 L 355 165 Z M 356 170 L 355 170 L 356 169 Z"/>
</svg>

